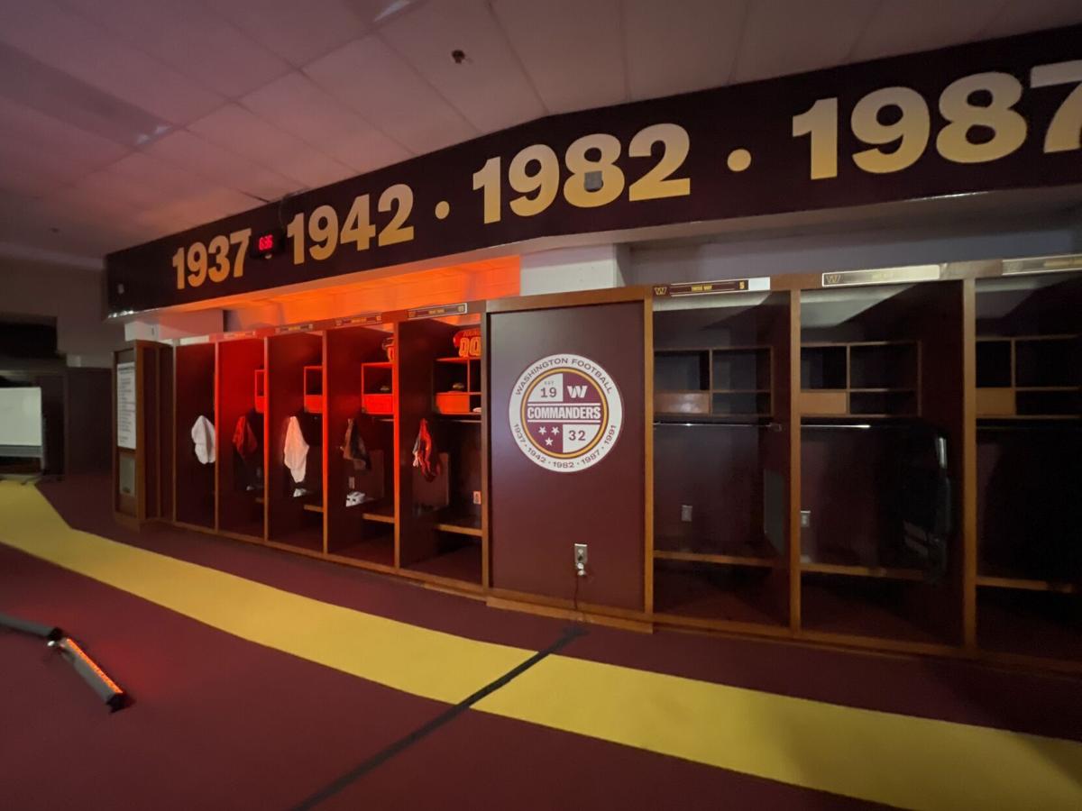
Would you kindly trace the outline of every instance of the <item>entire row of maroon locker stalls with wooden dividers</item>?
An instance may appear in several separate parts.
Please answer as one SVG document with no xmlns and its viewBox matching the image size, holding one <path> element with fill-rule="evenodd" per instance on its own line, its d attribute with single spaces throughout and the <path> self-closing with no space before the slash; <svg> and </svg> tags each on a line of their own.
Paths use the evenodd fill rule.
<svg viewBox="0 0 1082 811">
<path fill-rule="evenodd" d="M 591 291 L 177 345 L 160 495 L 182 526 L 493 604 L 1077 669 L 1082 271 L 1008 266 Z M 621 456 L 553 478 L 500 417 L 568 346 L 619 381 L 625 433 Z M 582 505 L 553 514 L 567 484 Z"/>
</svg>

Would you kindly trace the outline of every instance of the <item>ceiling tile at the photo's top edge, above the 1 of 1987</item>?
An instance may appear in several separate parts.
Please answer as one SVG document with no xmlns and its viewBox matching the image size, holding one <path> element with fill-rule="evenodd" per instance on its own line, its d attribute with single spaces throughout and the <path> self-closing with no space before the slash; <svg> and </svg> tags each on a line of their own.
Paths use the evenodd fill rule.
<svg viewBox="0 0 1082 811">
<path fill-rule="evenodd" d="M 733 82 L 843 63 L 878 6 L 867 0 L 755 0 L 744 23 Z"/>
</svg>

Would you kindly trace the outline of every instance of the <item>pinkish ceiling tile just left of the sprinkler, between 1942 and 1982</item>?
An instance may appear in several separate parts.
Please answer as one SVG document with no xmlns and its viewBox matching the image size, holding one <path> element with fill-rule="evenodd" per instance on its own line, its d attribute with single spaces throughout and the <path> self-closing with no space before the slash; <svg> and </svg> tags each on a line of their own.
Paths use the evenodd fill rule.
<svg viewBox="0 0 1082 811">
<path fill-rule="evenodd" d="M 379 37 L 351 42 L 312 63 L 304 72 L 418 155 L 477 134 L 458 110 Z"/>
</svg>

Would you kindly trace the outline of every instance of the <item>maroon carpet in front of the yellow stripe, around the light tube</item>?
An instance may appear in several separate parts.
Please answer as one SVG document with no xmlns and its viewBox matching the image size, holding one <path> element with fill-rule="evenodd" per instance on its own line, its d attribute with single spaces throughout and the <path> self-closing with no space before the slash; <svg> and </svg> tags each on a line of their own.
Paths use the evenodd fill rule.
<svg viewBox="0 0 1082 811">
<path fill-rule="evenodd" d="M 447 709 L 2 545 L 0 612 L 68 629 L 135 697 L 110 715 L 41 641 L 0 631 L 2 809 L 289 809 Z M 870 807 L 467 712 L 319 808 L 626 811 L 720 802 Z"/>
</svg>

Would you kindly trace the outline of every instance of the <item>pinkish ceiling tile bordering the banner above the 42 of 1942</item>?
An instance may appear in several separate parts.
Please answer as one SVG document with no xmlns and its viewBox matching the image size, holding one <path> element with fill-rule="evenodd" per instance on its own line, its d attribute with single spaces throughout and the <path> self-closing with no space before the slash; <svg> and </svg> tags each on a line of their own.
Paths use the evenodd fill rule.
<svg viewBox="0 0 1082 811">
<path fill-rule="evenodd" d="M 283 76 L 240 103 L 278 129 L 345 163 L 355 174 L 409 157 L 401 145 L 300 72 Z"/>
</svg>

